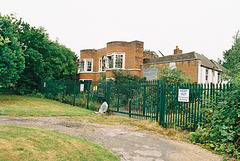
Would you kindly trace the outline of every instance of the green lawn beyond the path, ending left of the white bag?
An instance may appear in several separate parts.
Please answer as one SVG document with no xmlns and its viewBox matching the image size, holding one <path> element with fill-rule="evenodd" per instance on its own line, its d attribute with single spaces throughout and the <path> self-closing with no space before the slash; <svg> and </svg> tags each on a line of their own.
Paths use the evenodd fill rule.
<svg viewBox="0 0 240 161">
<path fill-rule="evenodd" d="M 0 95 L 0 115 L 7 116 L 91 116 L 93 111 L 54 100 Z"/>
</svg>

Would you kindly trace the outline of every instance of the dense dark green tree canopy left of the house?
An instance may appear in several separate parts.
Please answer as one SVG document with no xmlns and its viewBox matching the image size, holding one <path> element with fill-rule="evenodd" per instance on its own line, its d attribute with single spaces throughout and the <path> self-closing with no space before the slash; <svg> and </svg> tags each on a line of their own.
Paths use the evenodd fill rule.
<svg viewBox="0 0 240 161">
<path fill-rule="evenodd" d="M 41 79 L 71 79 L 76 75 L 75 62 L 77 58 L 74 52 L 59 42 L 50 40 L 44 28 L 32 27 L 14 16 L 0 16 L 0 19 L 0 24 L 7 19 L 7 25 L 1 25 L 1 30 L 4 32 L 0 31 L 0 34 L 3 40 L 6 38 L 10 41 L 10 43 L 4 44 L 4 41 L 1 40 L 3 45 L 0 47 L 0 57 L 3 59 L 0 61 L 10 57 L 9 53 L 11 52 L 16 55 L 17 60 L 13 61 L 12 65 L 5 60 L 8 68 L 3 68 L 3 63 L 0 63 L 1 73 L 3 73 L 2 71 L 9 73 L 10 70 L 16 73 L 15 75 L 9 73 L 12 78 L 8 79 L 8 82 L 4 83 L 5 85 L 13 83 L 18 92 L 24 94 L 31 93 L 36 89 Z M 4 48 L 4 46 L 8 48 Z M 17 64 L 17 62 L 19 63 Z M 2 78 L 5 80 L 6 77 Z M 0 82 L 1 84 L 3 85 L 3 81 Z"/>
</svg>

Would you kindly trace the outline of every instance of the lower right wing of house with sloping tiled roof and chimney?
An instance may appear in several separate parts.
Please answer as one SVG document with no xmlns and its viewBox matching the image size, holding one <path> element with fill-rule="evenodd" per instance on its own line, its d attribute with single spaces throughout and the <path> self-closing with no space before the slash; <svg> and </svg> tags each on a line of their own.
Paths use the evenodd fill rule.
<svg viewBox="0 0 240 161">
<path fill-rule="evenodd" d="M 214 60 L 209 60 L 204 55 L 196 52 L 183 53 L 176 46 L 173 55 L 155 59 L 144 59 L 142 69 L 153 68 L 156 65 L 165 65 L 171 68 L 182 69 L 185 76 L 190 76 L 196 83 L 220 83 L 221 73 L 226 68 Z"/>
</svg>

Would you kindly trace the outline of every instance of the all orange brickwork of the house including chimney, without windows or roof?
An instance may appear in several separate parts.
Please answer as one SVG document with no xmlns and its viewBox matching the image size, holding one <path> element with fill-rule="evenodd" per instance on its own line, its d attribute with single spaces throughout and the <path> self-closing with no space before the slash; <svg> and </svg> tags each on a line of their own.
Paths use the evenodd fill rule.
<svg viewBox="0 0 240 161">
<path fill-rule="evenodd" d="M 155 63 L 154 65 L 146 65 L 143 61 L 144 58 L 155 58 L 156 55 L 144 51 L 144 43 L 141 41 L 132 41 L 132 42 L 122 42 L 115 41 L 107 43 L 106 48 L 102 49 L 88 49 L 81 50 L 81 59 L 93 59 L 93 72 L 90 73 L 80 73 L 79 79 L 91 79 L 94 82 L 98 81 L 101 78 L 99 73 L 99 58 L 102 56 L 107 56 L 108 53 L 125 53 L 125 70 L 124 72 L 130 72 L 137 76 L 143 76 L 143 69 L 147 68 L 160 68 L 161 66 L 169 66 L 169 63 L 159 64 L 158 59 L 149 59 L 147 63 Z M 174 50 L 174 55 L 178 54 L 180 57 L 182 50 L 178 47 Z M 178 57 L 179 57 L 178 56 Z M 165 57 L 164 57 L 165 58 Z M 167 57 L 166 57 L 167 58 Z M 198 82 L 198 64 L 199 60 L 189 60 L 189 61 L 180 61 L 176 62 L 175 65 L 177 68 L 182 69 L 185 73 L 185 76 L 190 76 L 192 82 Z M 138 69 L 138 70 L 137 70 Z M 141 70 L 139 70 L 141 69 Z M 106 70 L 106 77 L 112 78 L 112 71 Z"/>
</svg>

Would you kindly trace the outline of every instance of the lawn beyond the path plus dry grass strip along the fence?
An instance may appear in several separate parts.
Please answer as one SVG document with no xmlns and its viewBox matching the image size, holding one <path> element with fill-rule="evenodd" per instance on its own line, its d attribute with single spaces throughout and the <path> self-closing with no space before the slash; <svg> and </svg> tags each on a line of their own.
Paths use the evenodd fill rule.
<svg viewBox="0 0 240 161">
<path fill-rule="evenodd" d="M 174 129 L 161 128 L 156 122 L 136 120 L 117 115 L 95 115 L 93 111 L 63 104 L 57 101 L 18 96 L 0 95 L 0 115 L 6 116 L 73 116 L 70 120 L 108 125 L 133 125 L 135 130 L 161 133 L 177 140 L 185 140 L 186 133 Z"/>
</svg>

